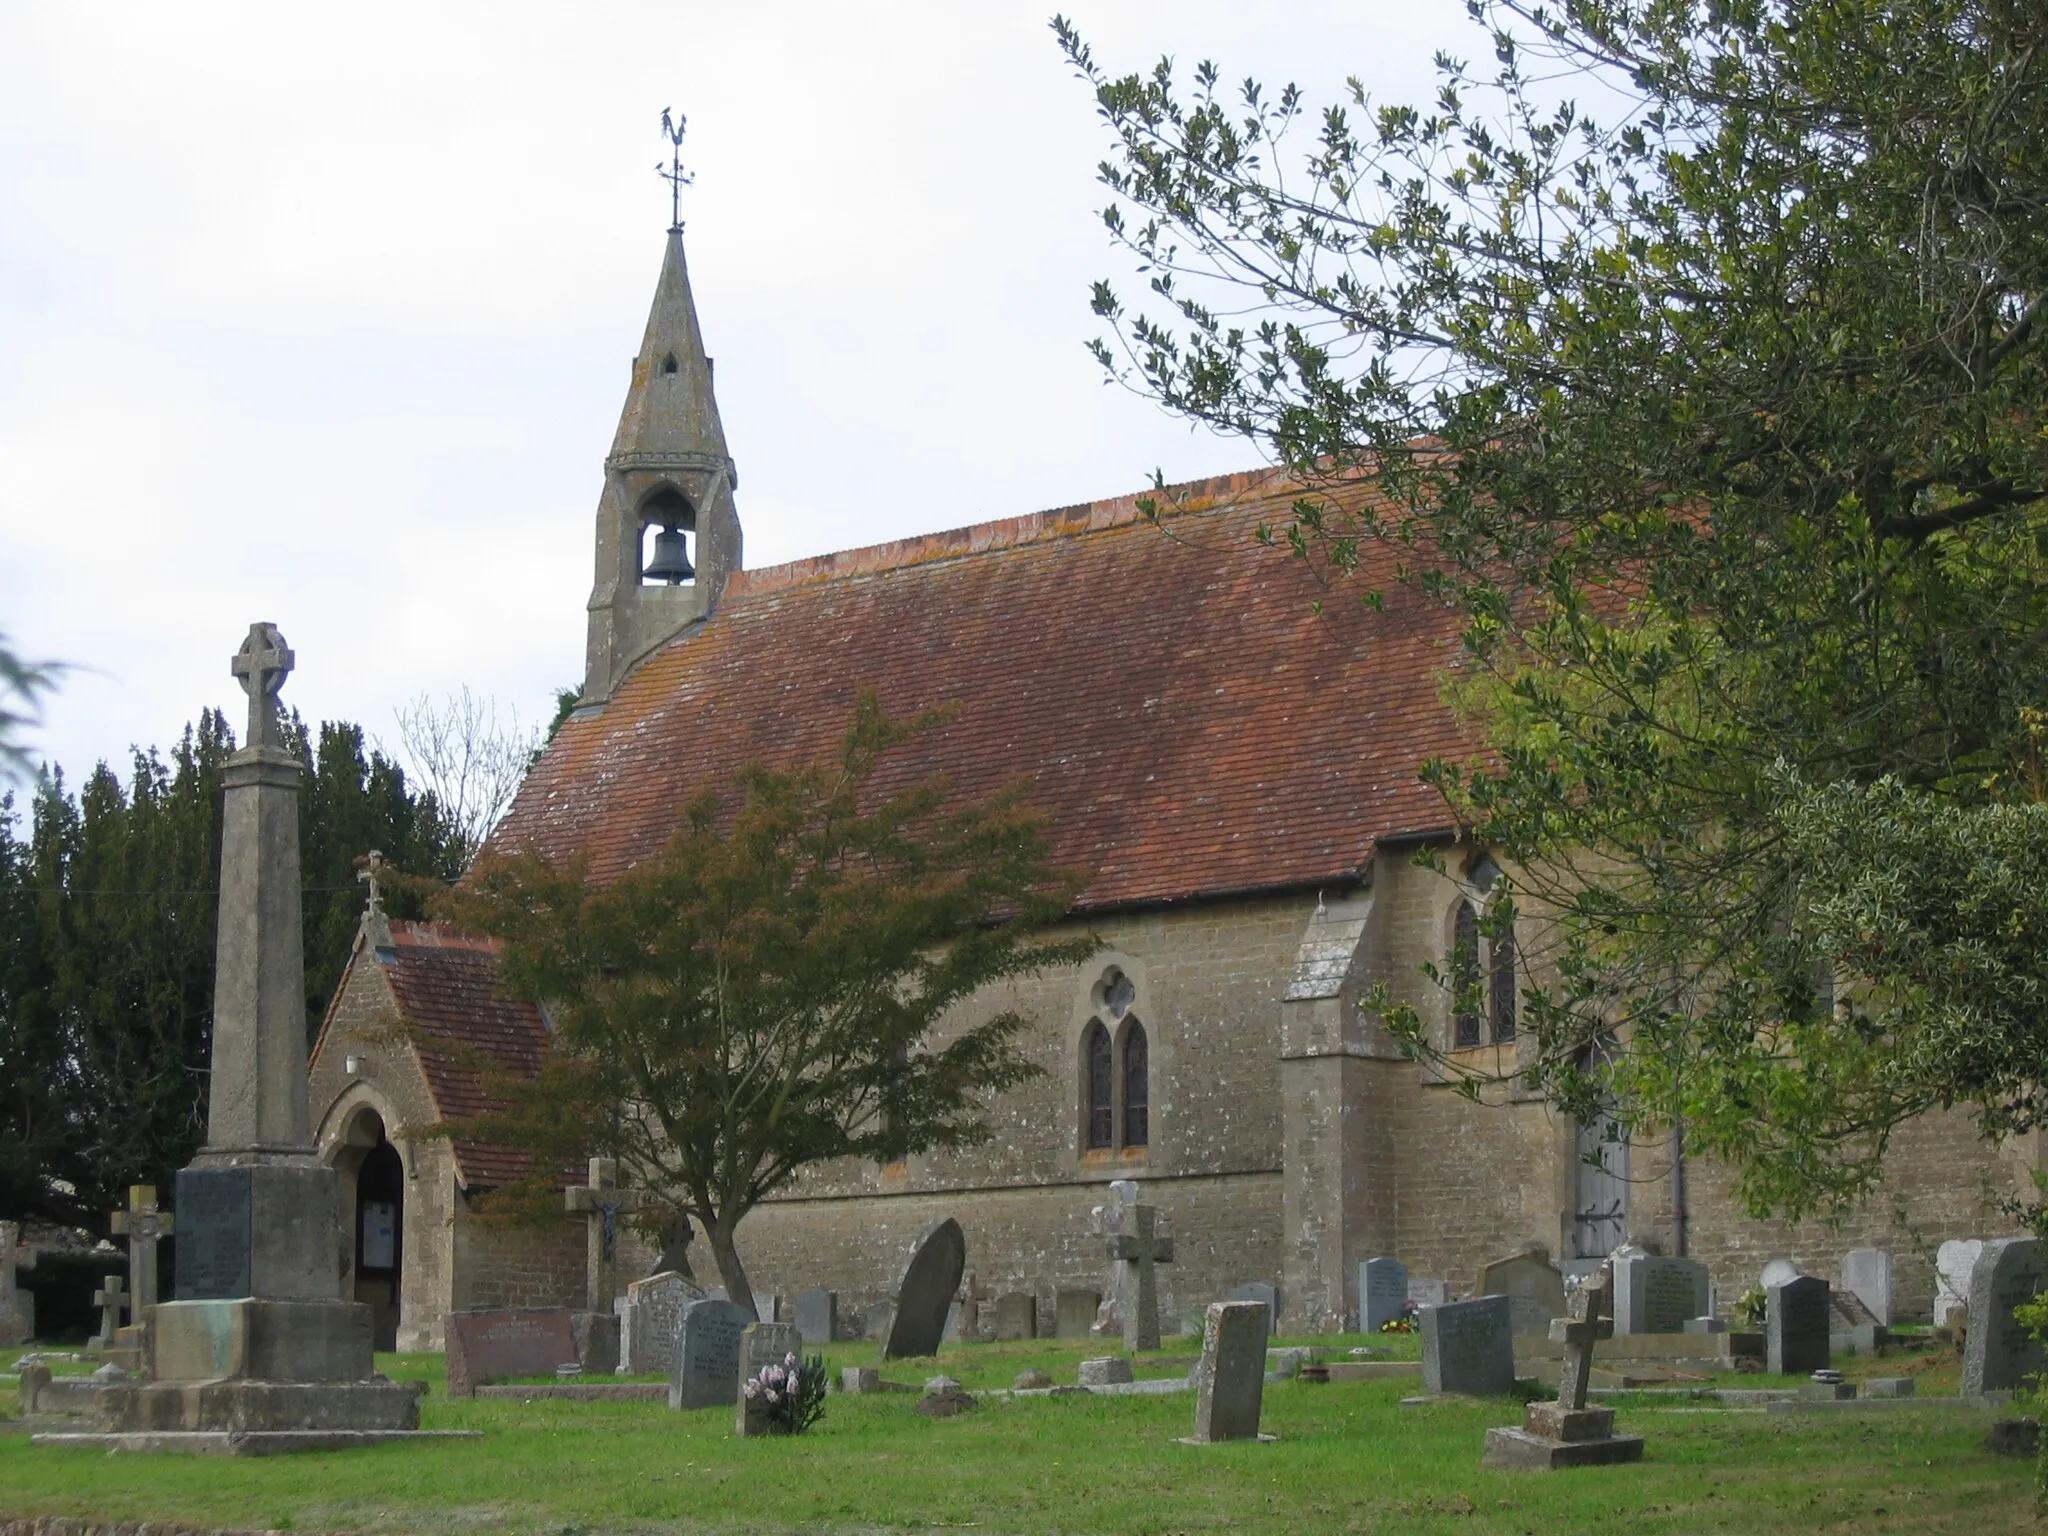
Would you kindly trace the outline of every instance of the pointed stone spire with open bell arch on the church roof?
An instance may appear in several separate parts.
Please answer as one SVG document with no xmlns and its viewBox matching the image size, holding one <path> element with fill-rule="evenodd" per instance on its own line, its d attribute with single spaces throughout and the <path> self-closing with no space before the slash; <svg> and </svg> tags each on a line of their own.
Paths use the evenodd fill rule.
<svg viewBox="0 0 2048 1536">
<path fill-rule="evenodd" d="M 647 334 L 604 461 L 584 702 L 610 698 L 641 657 L 717 606 L 725 578 L 739 569 L 737 479 L 690 297 L 682 229 L 670 229 Z M 662 528 L 682 532 L 690 580 L 643 575 L 651 537 Z"/>
</svg>

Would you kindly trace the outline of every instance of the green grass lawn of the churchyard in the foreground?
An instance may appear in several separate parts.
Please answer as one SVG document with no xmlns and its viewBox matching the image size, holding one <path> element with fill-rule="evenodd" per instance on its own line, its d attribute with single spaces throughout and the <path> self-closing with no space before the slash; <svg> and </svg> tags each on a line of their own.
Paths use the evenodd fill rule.
<svg viewBox="0 0 2048 1536">
<path fill-rule="evenodd" d="M 1323 1343 L 1329 1343 L 1323 1339 Z M 1100 1346 L 1096 1346 L 1100 1348 Z M 1075 1343 L 950 1348 L 895 1362 L 977 1386 L 1024 1366 L 1073 1380 Z M 1171 1341 L 1167 1354 L 1176 1354 Z M 840 1364 L 872 1350 L 840 1346 Z M 295 1532 L 1966 1532 L 2028 1530 L 2032 1466 L 1982 1450 L 1989 1411 L 1763 1415 L 1651 1399 L 1638 1466 L 1479 1470 L 1513 1405 L 1405 1409 L 1413 1380 L 1266 1389 L 1272 1446 L 1180 1446 L 1194 1399 L 993 1399 L 930 1421 L 905 1395 L 834 1397 L 801 1440 L 733 1440 L 731 1413 L 645 1403 L 453 1401 L 440 1356 L 383 1356 L 426 1376 L 424 1423 L 485 1440 L 336 1456 L 186 1460 L 29 1446 L 0 1425 L 0 1513 L 178 1520 Z M 1929 1370 L 1933 1374 L 1933 1370 Z M 1743 1384 L 1778 1384 L 1747 1376 Z M 1921 1389 L 1935 1382 L 1923 1378 Z M 12 1401 L 6 1411 L 12 1413 Z M 12 1432 L 8 1432 L 12 1430 Z"/>
</svg>

